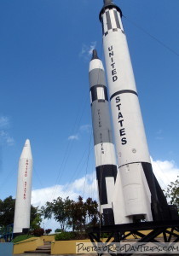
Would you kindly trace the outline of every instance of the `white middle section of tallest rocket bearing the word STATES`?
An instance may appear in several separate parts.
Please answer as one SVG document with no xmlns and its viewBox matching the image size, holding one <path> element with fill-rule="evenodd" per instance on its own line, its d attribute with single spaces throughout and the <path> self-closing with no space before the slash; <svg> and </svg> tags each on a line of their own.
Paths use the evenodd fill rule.
<svg viewBox="0 0 179 256">
<path fill-rule="evenodd" d="M 148 162 L 150 156 L 138 96 L 124 92 L 111 100 L 118 165 Z"/>
</svg>

